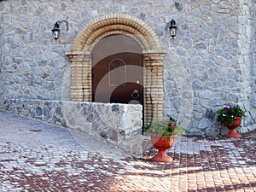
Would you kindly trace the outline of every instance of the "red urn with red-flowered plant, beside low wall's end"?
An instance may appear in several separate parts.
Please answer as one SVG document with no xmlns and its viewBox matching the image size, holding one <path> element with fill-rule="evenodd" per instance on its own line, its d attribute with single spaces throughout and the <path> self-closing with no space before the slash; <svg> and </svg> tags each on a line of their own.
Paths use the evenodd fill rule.
<svg viewBox="0 0 256 192">
<path fill-rule="evenodd" d="M 177 120 L 172 117 L 152 120 L 143 128 L 143 132 L 150 136 L 154 148 L 158 149 L 158 153 L 152 159 L 154 162 L 172 162 L 172 157 L 166 154 L 166 150 L 172 147 L 177 135 L 185 135 L 183 127 L 177 125 Z"/>
</svg>

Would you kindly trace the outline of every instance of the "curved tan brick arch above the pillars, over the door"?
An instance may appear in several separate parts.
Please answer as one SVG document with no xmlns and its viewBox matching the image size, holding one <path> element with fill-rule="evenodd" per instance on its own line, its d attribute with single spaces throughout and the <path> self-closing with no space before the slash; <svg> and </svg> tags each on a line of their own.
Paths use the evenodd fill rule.
<svg viewBox="0 0 256 192">
<path fill-rule="evenodd" d="M 92 20 L 74 39 L 73 51 L 90 51 L 92 44 L 113 34 L 133 36 L 143 49 L 161 49 L 156 34 L 142 20 L 131 15 L 108 15 Z"/>
</svg>

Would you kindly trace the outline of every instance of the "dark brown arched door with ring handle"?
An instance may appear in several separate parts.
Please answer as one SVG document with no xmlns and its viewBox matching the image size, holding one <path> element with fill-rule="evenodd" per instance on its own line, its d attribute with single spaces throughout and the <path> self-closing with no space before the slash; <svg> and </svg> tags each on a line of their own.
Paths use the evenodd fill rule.
<svg viewBox="0 0 256 192">
<path fill-rule="evenodd" d="M 111 37 L 94 49 L 103 50 L 101 56 L 93 57 L 93 102 L 143 104 L 143 55 L 132 41 L 125 36 Z"/>
</svg>

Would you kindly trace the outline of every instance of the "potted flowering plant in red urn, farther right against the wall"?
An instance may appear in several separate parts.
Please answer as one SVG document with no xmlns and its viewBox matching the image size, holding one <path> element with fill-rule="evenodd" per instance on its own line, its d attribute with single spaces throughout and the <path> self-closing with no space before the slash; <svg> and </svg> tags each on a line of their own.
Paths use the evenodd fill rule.
<svg viewBox="0 0 256 192">
<path fill-rule="evenodd" d="M 225 137 L 241 137 L 236 132 L 236 127 L 241 124 L 241 118 L 245 117 L 245 111 L 237 106 L 230 106 L 229 108 L 221 108 L 217 111 L 217 120 L 227 126 L 230 132 Z"/>
</svg>

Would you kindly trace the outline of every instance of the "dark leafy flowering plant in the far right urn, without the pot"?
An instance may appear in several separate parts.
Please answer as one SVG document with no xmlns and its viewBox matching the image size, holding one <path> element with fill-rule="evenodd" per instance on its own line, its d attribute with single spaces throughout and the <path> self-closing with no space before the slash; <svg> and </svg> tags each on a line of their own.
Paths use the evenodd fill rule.
<svg viewBox="0 0 256 192">
<path fill-rule="evenodd" d="M 217 111 L 217 120 L 221 123 L 232 123 L 237 117 L 245 117 L 245 111 L 237 106 L 220 108 Z"/>
</svg>

